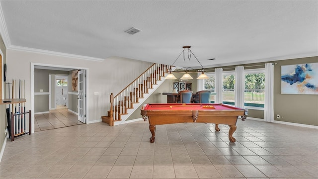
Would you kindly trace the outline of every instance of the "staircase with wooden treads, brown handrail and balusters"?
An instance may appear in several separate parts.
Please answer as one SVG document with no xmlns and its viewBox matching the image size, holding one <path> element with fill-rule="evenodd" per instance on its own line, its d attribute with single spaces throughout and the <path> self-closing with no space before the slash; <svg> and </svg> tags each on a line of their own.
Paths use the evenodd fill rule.
<svg viewBox="0 0 318 179">
<path fill-rule="evenodd" d="M 110 126 L 123 123 L 159 87 L 170 68 L 170 65 L 153 64 L 118 94 L 111 93 L 110 110 L 101 120 Z"/>
</svg>

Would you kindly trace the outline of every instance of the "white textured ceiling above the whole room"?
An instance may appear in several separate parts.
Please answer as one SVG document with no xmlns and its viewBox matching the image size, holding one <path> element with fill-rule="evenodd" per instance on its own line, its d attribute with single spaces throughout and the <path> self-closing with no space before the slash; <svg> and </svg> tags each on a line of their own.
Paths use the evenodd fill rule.
<svg viewBox="0 0 318 179">
<path fill-rule="evenodd" d="M 318 55 L 317 0 L 0 0 L 10 49 L 205 67 Z M 3 20 L 2 20 L 3 21 Z M 131 27 L 142 30 L 125 33 Z M 216 58 L 209 61 L 208 59 Z M 200 66 L 195 59 L 179 67 Z"/>
</svg>

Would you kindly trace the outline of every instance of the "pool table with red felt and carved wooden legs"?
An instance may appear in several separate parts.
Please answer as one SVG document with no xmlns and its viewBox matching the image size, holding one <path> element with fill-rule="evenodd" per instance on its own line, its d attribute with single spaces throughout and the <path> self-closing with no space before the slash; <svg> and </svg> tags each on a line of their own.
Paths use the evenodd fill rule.
<svg viewBox="0 0 318 179">
<path fill-rule="evenodd" d="M 227 104 L 203 104 L 203 103 L 166 103 L 166 104 L 145 104 L 141 108 L 141 115 L 145 121 L 149 121 L 149 129 L 152 133 L 150 142 L 155 142 L 156 125 L 174 123 L 215 123 L 215 130 L 220 131 L 218 124 L 228 124 L 229 140 L 235 142 L 233 133 L 237 129 L 236 123 L 241 116 L 244 120 L 247 109 Z"/>
</svg>

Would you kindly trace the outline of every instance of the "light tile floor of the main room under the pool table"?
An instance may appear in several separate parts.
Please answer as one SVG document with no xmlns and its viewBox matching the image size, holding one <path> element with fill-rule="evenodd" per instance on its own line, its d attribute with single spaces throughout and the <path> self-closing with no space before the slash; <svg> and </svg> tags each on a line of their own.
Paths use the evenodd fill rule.
<svg viewBox="0 0 318 179">
<path fill-rule="evenodd" d="M 227 125 L 110 127 L 98 122 L 35 132 L 6 143 L 1 179 L 317 179 L 318 130 L 256 120 Z"/>
</svg>

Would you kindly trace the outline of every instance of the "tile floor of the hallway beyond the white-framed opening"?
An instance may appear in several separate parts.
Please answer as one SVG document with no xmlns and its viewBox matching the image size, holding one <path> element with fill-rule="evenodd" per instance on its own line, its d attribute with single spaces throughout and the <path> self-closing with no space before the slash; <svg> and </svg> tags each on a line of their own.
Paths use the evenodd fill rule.
<svg viewBox="0 0 318 179">
<path fill-rule="evenodd" d="M 50 113 L 34 115 L 34 131 L 43 131 L 61 127 L 83 124 L 78 115 L 70 112 L 68 108 L 50 110 Z"/>
</svg>

